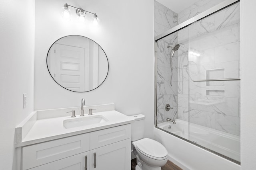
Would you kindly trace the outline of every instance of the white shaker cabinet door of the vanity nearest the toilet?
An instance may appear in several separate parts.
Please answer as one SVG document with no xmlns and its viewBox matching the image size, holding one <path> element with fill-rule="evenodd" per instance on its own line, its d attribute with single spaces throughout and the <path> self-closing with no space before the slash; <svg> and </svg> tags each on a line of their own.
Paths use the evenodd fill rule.
<svg viewBox="0 0 256 170">
<path fill-rule="evenodd" d="M 96 164 L 96 166 L 95 166 Z M 130 170 L 131 139 L 90 150 L 90 170 Z"/>
</svg>

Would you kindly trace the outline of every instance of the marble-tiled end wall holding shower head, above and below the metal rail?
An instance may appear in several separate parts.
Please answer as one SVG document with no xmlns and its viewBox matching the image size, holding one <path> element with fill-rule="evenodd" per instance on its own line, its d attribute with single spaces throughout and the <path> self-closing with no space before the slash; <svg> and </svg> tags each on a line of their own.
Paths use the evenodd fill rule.
<svg viewBox="0 0 256 170">
<path fill-rule="evenodd" d="M 177 14 L 157 1 L 154 1 L 154 32 L 155 36 L 177 25 Z M 178 61 L 177 53 L 172 58 L 173 69 L 170 67 L 171 50 L 167 46 L 177 44 L 177 34 L 161 39 L 156 44 L 156 93 L 157 93 L 157 121 L 166 118 L 176 118 L 178 110 Z M 172 73 L 172 80 L 171 79 Z M 166 104 L 173 109 L 165 110 Z"/>
</svg>

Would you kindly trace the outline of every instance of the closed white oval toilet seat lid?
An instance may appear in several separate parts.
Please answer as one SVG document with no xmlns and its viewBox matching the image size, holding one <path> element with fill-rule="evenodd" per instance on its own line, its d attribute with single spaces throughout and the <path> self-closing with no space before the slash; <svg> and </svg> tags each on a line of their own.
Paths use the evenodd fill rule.
<svg viewBox="0 0 256 170">
<path fill-rule="evenodd" d="M 166 148 L 159 143 L 149 138 L 144 138 L 136 142 L 138 151 L 146 156 L 159 159 L 168 155 Z"/>
</svg>

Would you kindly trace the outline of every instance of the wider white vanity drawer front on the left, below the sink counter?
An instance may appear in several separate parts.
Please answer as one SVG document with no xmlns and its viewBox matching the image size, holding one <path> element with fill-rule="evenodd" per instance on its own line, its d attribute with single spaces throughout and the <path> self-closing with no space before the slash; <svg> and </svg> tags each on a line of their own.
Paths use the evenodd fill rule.
<svg viewBox="0 0 256 170">
<path fill-rule="evenodd" d="M 90 150 L 90 134 L 76 135 L 22 148 L 22 168 L 27 170 Z"/>
</svg>

